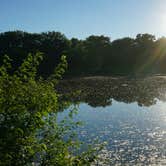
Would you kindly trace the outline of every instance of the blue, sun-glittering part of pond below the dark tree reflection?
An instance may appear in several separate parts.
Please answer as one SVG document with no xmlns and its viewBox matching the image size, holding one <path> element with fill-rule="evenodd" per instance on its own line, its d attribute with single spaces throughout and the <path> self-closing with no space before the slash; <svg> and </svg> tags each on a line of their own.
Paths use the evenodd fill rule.
<svg viewBox="0 0 166 166">
<path fill-rule="evenodd" d="M 67 110 L 60 113 L 65 116 Z M 166 103 L 150 107 L 113 100 L 111 106 L 79 105 L 74 120 L 83 121 L 79 139 L 107 141 L 101 156 L 110 164 L 166 164 Z"/>
</svg>

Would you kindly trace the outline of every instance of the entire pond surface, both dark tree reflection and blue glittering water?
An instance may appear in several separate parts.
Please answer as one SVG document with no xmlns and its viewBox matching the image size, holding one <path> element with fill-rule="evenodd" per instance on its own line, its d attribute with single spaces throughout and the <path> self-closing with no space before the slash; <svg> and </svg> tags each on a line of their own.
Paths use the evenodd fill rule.
<svg viewBox="0 0 166 166">
<path fill-rule="evenodd" d="M 79 138 L 107 141 L 107 165 L 166 165 L 166 80 L 84 79 L 63 83 L 64 93 L 81 90 L 75 120 Z M 68 110 L 60 113 L 63 117 Z"/>
</svg>

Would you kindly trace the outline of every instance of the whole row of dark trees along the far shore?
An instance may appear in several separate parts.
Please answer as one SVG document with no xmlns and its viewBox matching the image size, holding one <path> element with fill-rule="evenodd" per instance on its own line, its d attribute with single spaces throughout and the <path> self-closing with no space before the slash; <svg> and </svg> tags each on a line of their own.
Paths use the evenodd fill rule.
<svg viewBox="0 0 166 166">
<path fill-rule="evenodd" d="M 138 34 L 111 41 L 107 36 L 91 35 L 84 40 L 68 39 L 60 32 L 0 33 L 0 63 L 7 54 L 13 59 L 13 70 L 29 52 L 44 53 L 39 74 L 53 73 L 62 54 L 67 56 L 66 76 L 82 75 L 139 75 L 166 73 L 166 38 Z"/>
</svg>

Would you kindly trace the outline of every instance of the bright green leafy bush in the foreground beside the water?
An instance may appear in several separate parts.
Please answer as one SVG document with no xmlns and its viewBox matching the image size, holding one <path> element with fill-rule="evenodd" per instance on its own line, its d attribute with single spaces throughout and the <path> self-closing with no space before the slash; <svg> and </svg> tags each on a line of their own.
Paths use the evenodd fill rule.
<svg viewBox="0 0 166 166">
<path fill-rule="evenodd" d="M 41 60 L 42 53 L 29 54 L 10 74 L 11 60 L 5 56 L 0 67 L 0 165 L 89 165 L 95 158 L 88 160 L 91 153 L 75 156 L 70 150 L 78 147 L 71 129 L 79 123 L 56 122 L 63 104 L 55 86 L 65 71 L 66 58 L 62 56 L 47 80 L 36 75 Z"/>
</svg>

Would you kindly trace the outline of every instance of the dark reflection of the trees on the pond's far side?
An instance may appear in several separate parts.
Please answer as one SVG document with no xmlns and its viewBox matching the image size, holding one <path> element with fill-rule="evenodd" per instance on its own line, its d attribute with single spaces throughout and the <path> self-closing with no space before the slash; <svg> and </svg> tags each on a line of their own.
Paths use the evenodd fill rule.
<svg viewBox="0 0 166 166">
<path fill-rule="evenodd" d="M 62 93 L 80 90 L 80 95 L 72 98 L 92 107 L 111 105 L 111 99 L 119 102 L 137 102 L 140 106 L 150 106 L 156 99 L 166 100 L 166 79 L 150 77 L 146 79 L 85 78 L 63 81 L 58 87 Z M 71 97 L 70 97 L 71 100 Z"/>
</svg>

